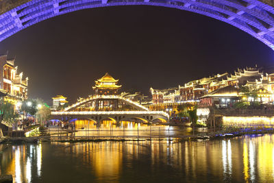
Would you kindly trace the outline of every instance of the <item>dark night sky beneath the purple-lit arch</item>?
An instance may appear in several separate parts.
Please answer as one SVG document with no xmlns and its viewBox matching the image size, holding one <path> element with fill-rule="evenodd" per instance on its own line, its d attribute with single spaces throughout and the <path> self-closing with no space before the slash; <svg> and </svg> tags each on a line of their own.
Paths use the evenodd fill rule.
<svg viewBox="0 0 274 183">
<path fill-rule="evenodd" d="M 0 42 L 29 77 L 29 97 L 51 103 L 92 93 L 110 73 L 122 90 L 168 88 L 237 67 L 273 65 L 274 51 L 227 23 L 182 10 L 119 6 L 80 10 Z"/>
</svg>

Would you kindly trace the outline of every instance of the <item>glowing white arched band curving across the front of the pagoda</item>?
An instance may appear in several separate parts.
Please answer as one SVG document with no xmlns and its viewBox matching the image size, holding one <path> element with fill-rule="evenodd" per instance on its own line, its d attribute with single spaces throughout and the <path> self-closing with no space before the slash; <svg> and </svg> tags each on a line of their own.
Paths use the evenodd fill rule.
<svg viewBox="0 0 274 183">
<path fill-rule="evenodd" d="M 95 95 L 95 96 L 90 96 L 86 99 L 83 99 L 82 101 L 77 101 L 77 103 L 73 103 L 73 105 L 64 108 L 64 111 L 71 111 L 74 110 L 75 108 L 84 105 L 85 103 L 88 103 L 90 101 L 94 101 L 96 99 L 118 99 L 120 101 L 123 101 L 127 103 L 129 106 L 132 106 L 133 108 L 136 108 L 138 110 L 145 110 L 148 111 L 149 109 L 146 108 L 145 106 L 140 105 L 137 102 L 134 102 L 129 99 L 125 99 L 124 97 L 116 96 L 116 95 Z"/>
</svg>

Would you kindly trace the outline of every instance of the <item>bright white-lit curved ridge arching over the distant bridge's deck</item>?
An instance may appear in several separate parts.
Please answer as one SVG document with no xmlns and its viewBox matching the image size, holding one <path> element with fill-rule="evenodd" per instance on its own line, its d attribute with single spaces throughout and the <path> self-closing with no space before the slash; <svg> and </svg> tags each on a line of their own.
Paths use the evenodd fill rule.
<svg viewBox="0 0 274 183">
<path fill-rule="evenodd" d="M 71 105 L 67 108 L 64 108 L 64 111 L 68 111 L 68 110 L 71 110 L 72 108 L 75 108 L 77 106 L 81 106 L 82 104 L 84 104 L 84 103 L 86 103 L 90 100 L 93 100 L 93 99 L 121 99 L 123 101 L 127 101 L 128 103 L 131 103 L 134 106 L 137 106 L 138 108 L 141 108 L 142 110 L 149 111 L 149 109 L 146 108 L 145 106 L 142 106 L 139 103 L 136 103 L 136 102 L 131 101 L 129 99 L 125 99 L 124 97 L 120 97 L 120 96 L 117 96 L 117 95 L 95 95 L 95 96 L 93 95 L 93 96 L 90 96 L 86 99 L 83 99 L 82 101 L 77 101 L 77 103 L 74 103 L 73 105 Z"/>
</svg>

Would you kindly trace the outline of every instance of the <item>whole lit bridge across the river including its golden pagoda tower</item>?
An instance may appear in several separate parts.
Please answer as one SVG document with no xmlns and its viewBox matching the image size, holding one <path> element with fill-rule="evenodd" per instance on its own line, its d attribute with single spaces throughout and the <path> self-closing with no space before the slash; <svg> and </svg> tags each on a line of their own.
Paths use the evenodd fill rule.
<svg viewBox="0 0 274 183">
<path fill-rule="evenodd" d="M 121 121 L 169 121 L 169 114 L 163 111 L 150 111 L 149 108 L 142 106 L 138 99 L 140 93 L 130 95 L 129 93 L 118 94 L 121 86 L 117 85 L 115 80 L 108 73 L 101 79 L 95 81 L 95 95 L 89 95 L 87 98 L 79 98 L 76 103 L 68 106 L 61 111 L 51 112 L 55 119 L 89 119 L 95 121 L 97 126 L 104 120 L 115 121 L 119 124 Z"/>
</svg>

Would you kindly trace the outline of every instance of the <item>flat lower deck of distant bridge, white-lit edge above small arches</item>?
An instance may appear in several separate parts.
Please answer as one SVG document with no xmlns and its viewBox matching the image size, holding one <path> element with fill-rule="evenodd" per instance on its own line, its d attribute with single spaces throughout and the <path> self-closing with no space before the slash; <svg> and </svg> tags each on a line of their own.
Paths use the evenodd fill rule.
<svg viewBox="0 0 274 183">
<path fill-rule="evenodd" d="M 143 122 L 153 122 L 155 119 L 160 119 L 160 121 L 169 121 L 169 114 L 162 111 L 60 111 L 51 112 L 51 117 L 62 121 L 69 119 L 89 119 L 95 121 L 97 125 L 105 119 L 111 119 L 112 121 L 116 121 L 116 123 L 120 123 L 120 121 L 128 121 L 129 119 L 140 119 Z"/>
</svg>

